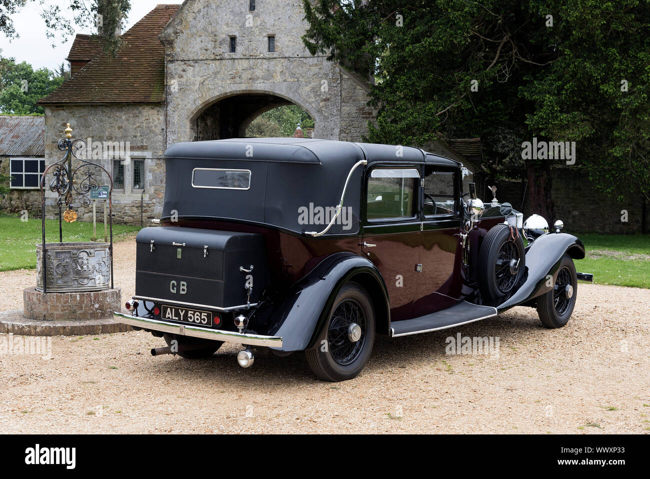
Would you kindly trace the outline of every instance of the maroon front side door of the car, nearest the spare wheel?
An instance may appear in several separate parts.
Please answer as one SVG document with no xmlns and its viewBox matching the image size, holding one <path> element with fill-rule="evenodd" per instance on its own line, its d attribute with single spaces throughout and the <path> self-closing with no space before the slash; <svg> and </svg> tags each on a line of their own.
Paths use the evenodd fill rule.
<svg viewBox="0 0 650 479">
<path fill-rule="evenodd" d="M 421 195 L 418 275 L 413 316 L 419 317 L 458 303 L 463 292 L 460 178 L 453 167 L 426 165 Z"/>
</svg>

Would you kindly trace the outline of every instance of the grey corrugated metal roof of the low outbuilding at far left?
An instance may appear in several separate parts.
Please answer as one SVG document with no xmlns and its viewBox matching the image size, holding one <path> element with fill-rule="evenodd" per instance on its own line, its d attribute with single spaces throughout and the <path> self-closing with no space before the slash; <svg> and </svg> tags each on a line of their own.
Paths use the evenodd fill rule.
<svg viewBox="0 0 650 479">
<path fill-rule="evenodd" d="M 45 156 L 45 116 L 0 115 L 0 156 Z"/>
</svg>

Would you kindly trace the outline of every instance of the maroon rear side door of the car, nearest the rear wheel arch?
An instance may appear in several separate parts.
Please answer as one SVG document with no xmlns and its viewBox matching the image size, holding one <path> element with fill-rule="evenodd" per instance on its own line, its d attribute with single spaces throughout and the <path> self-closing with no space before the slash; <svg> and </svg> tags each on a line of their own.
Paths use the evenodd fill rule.
<svg viewBox="0 0 650 479">
<path fill-rule="evenodd" d="M 391 320 L 411 318 L 420 250 L 419 165 L 377 166 L 365 178 L 361 251 L 388 289 Z"/>
</svg>

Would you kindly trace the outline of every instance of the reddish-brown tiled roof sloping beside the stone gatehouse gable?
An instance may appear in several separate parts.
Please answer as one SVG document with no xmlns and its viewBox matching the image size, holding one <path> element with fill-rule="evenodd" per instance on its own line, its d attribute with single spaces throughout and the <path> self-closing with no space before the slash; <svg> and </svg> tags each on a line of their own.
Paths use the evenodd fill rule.
<svg viewBox="0 0 650 479">
<path fill-rule="evenodd" d="M 164 102 L 164 47 L 158 35 L 179 7 L 157 5 L 122 35 L 123 46 L 116 58 L 99 53 L 38 103 Z"/>
</svg>

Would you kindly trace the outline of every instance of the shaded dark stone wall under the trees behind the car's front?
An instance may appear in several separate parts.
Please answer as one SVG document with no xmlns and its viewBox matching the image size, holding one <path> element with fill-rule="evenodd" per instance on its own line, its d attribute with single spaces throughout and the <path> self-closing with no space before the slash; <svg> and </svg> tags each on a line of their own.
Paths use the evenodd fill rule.
<svg viewBox="0 0 650 479">
<path fill-rule="evenodd" d="M 489 182 L 491 185 L 491 182 Z M 497 199 L 509 202 L 515 210 L 521 206 L 522 183 L 517 180 L 498 180 Z M 481 185 L 480 198 L 492 199 L 486 185 Z M 558 167 L 553 171 L 551 195 L 557 219 L 564 221 L 564 229 L 574 233 L 632 234 L 642 232 L 643 200 L 640 195 L 627 193 L 625 200 L 606 197 L 588 179 L 588 173 L 579 167 Z M 621 221 L 621 210 L 627 210 L 628 221 Z M 647 210 L 647 208 L 646 208 Z M 533 213 L 530 195 L 526 191 L 524 217 Z M 647 225 L 650 215 L 645 213 Z M 552 226 L 552 225 L 551 225 Z"/>
</svg>

